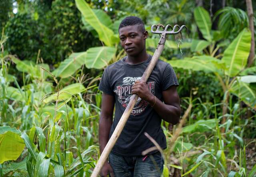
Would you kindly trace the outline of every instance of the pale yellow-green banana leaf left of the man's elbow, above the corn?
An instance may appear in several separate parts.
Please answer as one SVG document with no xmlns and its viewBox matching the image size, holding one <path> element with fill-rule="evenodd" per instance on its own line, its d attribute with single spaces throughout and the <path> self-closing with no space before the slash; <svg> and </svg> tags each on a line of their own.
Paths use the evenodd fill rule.
<svg viewBox="0 0 256 177">
<path fill-rule="evenodd" d="M 58 100 L 63 101 L 66 100 L 73 95 L 76 95 L 77 93 L 81 93 L 85 90 L 83 84 L 76 83 L 76 84 L 70 84 L 69 86 L 66 86 L 65 88 L 61 89 L 59 92 Z M 48 103 L 52 100 L 56 100 L 57 98 L 57 93 L 54 93 L 53 95 L 47 97 L 44 99 L 45 103 Z"/>
</svg>

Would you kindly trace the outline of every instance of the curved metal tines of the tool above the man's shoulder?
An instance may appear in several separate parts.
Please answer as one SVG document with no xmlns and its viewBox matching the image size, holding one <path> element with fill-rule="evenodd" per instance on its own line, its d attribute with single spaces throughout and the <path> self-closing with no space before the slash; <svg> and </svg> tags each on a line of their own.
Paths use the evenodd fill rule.
<svg viewBox="0 0 256 177">
<path fill-rule="evenodd" d="M 164 30 L 160 31 L 160 27 L 162 27 Z M 154 30 L 154 28 L 156 28 L 156 30 Z M 171 28 L 171 30 L 168 31 L 168 28 Z M 178 30 L 176 30 L 176 28 L 178 28 Z M 178 25 L 174 25 L 174 27 L 172 28 L 172 26 L 170 24 L 166 25 L 166 27 L 164 28 L 163 25 L 158 24 L 158 25 L 152 25 L 151 26 L 151 32 L 154 34 L 181 34 L 181 31 L 183 28 L 186 28 L 186 32 L 188 34 L 188 28 L 185 25 L 182 25 L 181 27 Z M 182 36 L 182 34 L 181 34 Z"/>
</svg>

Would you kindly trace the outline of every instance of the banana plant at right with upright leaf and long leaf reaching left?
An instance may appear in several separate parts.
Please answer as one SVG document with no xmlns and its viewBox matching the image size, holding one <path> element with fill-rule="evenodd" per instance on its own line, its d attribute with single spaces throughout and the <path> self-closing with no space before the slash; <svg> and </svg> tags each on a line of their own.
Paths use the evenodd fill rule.
<svg viewBox="0 0 256 177">
<path fill-rule="evenodd" d="M 208 35 L 208 33 L 205 32 L 204 35 Z M 210 36 L 207 36 L 207 38 L 211 39 Z M 245 73 L 247 58 L 250 53 L 250 40 L 250 31 L 244 28 L 224 50 L 221 60 L 212 56 L 194 56 L 184 58 L 184 60 L 170 60 L 168 62 L 175 68 L 213 73 L 219 80 L 224 92 L 223 115 L 227 113 L 230 93 L 238 96 L 248 106 L 256 109 L 256 89 L 252 87 L 253 83 L 256 82 L 256 76 L 239 77 Z M 254 70 L 254 68 L 246 70 Z M 245 78 L 247 82 L 245 82 Z M 225 117 L 222 120 L 222 123 L 224 123 Z"/>
</svg>

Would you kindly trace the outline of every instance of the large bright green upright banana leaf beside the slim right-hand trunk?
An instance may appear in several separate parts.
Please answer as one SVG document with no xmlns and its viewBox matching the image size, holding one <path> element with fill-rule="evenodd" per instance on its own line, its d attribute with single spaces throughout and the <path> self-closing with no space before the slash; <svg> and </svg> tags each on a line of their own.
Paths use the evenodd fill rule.
<svg viewBox="0 0 256 177">
<path fill-rule="evenodd" d="M 224 51 L 222 61 L 226 64 L 226 74 L 236 76 L 247 64 L 250 54 L 251 33 L 245 28 Z"/>
</svg>

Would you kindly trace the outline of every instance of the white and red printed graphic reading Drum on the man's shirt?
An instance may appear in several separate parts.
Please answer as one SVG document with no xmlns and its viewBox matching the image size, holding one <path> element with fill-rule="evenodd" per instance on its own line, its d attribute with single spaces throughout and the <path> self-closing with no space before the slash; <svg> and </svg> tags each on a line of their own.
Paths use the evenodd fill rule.
<svg viewBox="0 0 256 177">
<path fill-rule="evenodd" d="M 114 92 L 118 95 L 118 101 L 122 104 L 124 108 L 127 107 L 130 97 L 132 96 L 132 85 L 135 81 L 140 80 L 141 77 L 125 77 L 123 78 L 123 84 L 121 86 L 116 86 Z M 155 94 L 155 84 L 156 82 L 147 82 L 148 89 L 151 93 Z M 148 102 L 138 97 L 138 100 L 132 109 L 131 115 L 141 114 L 147 107 Z"/>
</svg>

